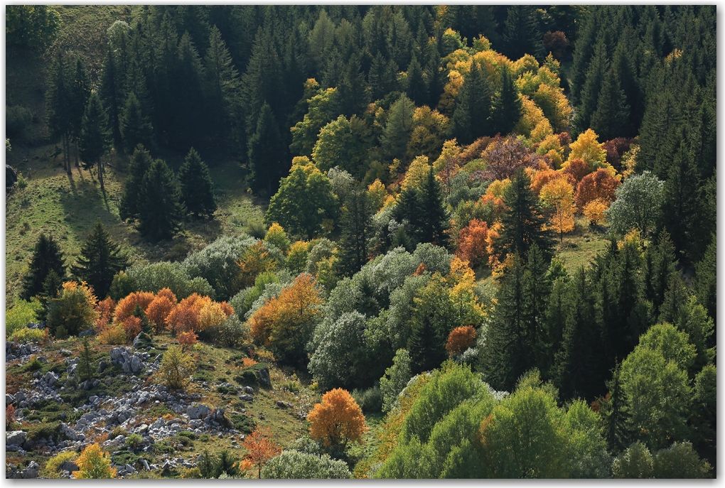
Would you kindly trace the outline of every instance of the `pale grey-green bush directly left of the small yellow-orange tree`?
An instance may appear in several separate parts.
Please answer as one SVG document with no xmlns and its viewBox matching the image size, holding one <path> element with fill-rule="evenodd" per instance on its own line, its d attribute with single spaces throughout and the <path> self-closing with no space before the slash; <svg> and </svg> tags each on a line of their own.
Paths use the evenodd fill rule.
<svg viewBox="0 0 725 488">
<path fill-rule="evenodd" d="M 247 234 L 225 235 L 219 237 L 201 251 L 190 254 L 183 266 L 191 277 L 202 277 L 214 288 L 216 300 L 228 300 L 239 293 L 239 274 L 237 261 L 249 246 L 257 239 Z M 276 245 L 265 243 L 270 256 L 283 263 L 283 256 Z"/>
</svg>

